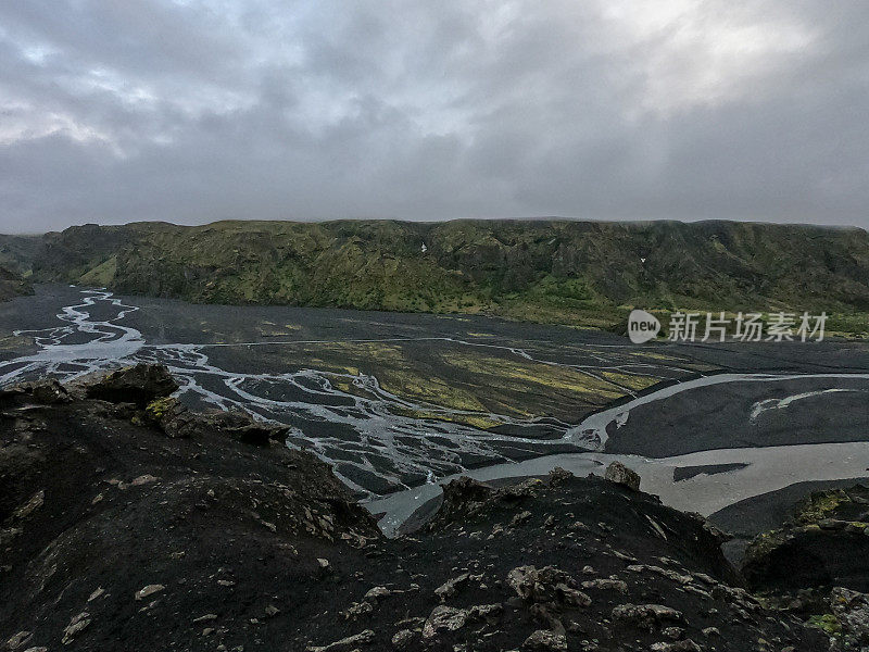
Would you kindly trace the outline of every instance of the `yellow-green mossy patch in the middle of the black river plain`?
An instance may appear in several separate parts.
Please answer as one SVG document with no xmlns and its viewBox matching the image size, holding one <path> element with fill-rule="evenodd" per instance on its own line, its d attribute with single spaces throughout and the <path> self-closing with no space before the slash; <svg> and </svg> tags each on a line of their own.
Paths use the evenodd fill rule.
<svg viewBox="0 0 869 652">
<path fill-rule="evenodd" d="M 631 354 L 624 362 L 644 360 Z M 363 381 L 371 376 L 380 389 L 406 401 L 396 414 L 480 428 L 499 425 L 493 415 L 575 423 L 614 399 L 658 381 L 615 369 L 609 377 L 599 378 L 569 366 L 526 360 L 506 349 L 440 340 L 301 341 L 275 351 L 254 348 L 245 352 L 245 361 L 260 368 L 279 361 L 285 371 L 318 369 L 328 375 L 332 387 L 356 397 L 377 394 L 375 386 Z"/>
</svg>

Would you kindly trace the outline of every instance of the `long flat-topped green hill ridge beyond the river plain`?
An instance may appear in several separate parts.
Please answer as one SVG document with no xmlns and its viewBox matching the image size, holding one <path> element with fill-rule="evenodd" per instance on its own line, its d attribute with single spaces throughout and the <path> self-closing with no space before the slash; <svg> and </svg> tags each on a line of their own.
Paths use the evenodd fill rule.
<svg viewBox="0 0 869 652">
<path fill-rule="evenodd" d="M 633 305 L 869 312 L 869 235 L 739 222 L 88 225 L 46 236 L 34 274 L 196 302 L 603 326 Z"/>
</svg>

